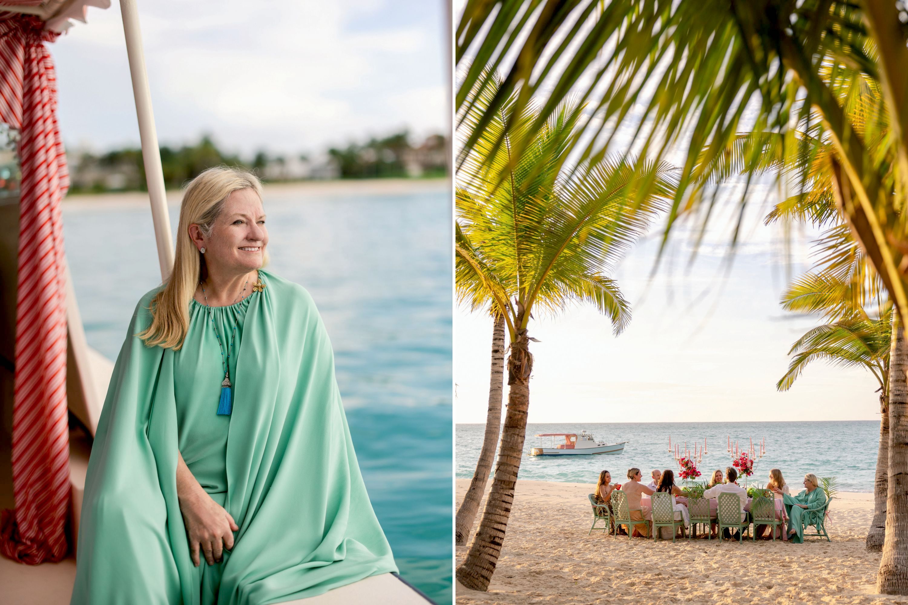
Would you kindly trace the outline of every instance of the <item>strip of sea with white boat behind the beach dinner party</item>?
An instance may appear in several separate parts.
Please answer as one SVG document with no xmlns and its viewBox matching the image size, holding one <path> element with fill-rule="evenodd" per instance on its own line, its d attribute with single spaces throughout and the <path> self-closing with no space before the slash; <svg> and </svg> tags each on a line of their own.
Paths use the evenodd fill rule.
<svg viewBox="0 0 908 605">
<path fill-rule="evenodd" d="M 473 476 L 483 424 L 457 425 L 457 476 Z M 609 444 L 627 441 L 622 454 L 589 456 L 531 456 L 529 448 L 538 444 L 541 433 L 578 433 L 586 430 L 597 440 Z M 524 456 L 519 477 L 536 481 L 596 483 L 600 471 L 612 474 L 613 481 L 624 483 L 627 469 L 636 466 L 648 477 L 654 469 L 677 471 L 668 452 L 672 444 L 688 442 L 691 449 L 706 439 L 706 455 L 698 470 L 700 480 L 716 469 L 731 464 L 728 438 L 739 444 L 756 444 L 765 437 L 766 454 L 756 466 L 750 483 L 766 483 L 769 470 L 778 468 L 792 490 L 800 490 L 804 473 L 836 477 L 844 492 L 873 492 L 873 473 L 879 444 L 880 424 L 874 421 L 774 422 L 774 423 L 627 423 L 627 424 L 528 424 Z"/>
</svg>

